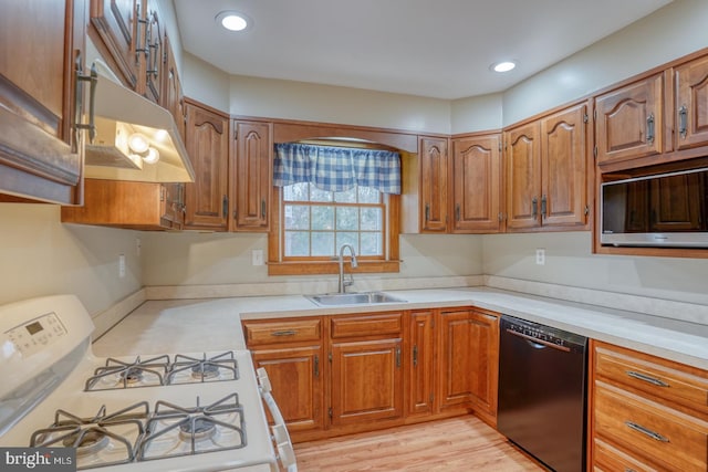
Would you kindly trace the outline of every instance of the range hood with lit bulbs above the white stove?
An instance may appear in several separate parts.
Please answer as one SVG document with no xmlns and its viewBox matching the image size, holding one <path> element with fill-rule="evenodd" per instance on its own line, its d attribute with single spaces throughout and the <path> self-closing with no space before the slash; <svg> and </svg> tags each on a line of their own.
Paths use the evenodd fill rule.
<svg viewBox="0 0 708 472">
<path fill-rule="evenodd" d="M 102 60 L 96 59 L 93 69 L 97 73 L 96 136 L 86 144 L 85 177 L 148 182 L 194 181 L 195 171 L 171 114 L 121 84 Z M 149 146 L 159 153 L 157 162 L 147 164 L 128 148 L 127 139 L 135 133 L 145 136 Z"/>
</svg>

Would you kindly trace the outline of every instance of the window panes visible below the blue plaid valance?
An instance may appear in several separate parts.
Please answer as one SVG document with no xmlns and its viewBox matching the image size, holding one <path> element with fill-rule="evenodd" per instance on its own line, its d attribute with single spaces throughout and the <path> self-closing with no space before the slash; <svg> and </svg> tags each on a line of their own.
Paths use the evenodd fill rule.
<svg viewBox="0 0 708 472">
<path fill-rule="evenodd" d="M 386 204 L 371 187 L 324 191 L 312 183 L 283 187 L 282 260 L 331 260 L 342 244 L 362 259 L 384 259 Z"/>
</svg>

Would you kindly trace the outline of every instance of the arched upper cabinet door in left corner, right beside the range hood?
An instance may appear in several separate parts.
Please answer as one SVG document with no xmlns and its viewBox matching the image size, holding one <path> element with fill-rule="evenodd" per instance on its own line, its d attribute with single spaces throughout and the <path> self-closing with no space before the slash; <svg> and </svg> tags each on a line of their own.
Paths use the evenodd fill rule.
<svg viewBox="0 0 708 472">
<path fill-rule="evenodd" d="M 185 145 L 195 169 L 186 186 L 185 227 L 226 231 L 229 211 L 229 118 L 187 104 Z"/>
</svg>

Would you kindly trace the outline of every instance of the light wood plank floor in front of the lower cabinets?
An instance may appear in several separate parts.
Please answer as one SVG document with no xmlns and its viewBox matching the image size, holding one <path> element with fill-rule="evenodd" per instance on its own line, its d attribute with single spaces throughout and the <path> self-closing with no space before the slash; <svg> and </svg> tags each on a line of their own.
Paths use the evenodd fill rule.
<svg viewBox="0 0 708 472">
<path fill-rule="evenodd" d="M 473 416 L 295 444 L 299 472 L 545 471 Z"/>
</svg>

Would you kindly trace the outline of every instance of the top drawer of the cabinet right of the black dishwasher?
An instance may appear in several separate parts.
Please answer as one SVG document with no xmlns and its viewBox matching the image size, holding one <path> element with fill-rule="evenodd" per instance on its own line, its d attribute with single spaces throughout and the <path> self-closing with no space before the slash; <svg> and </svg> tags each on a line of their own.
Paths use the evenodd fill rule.
<svg viewBox="0 0 708 472">
<path fill-rule="evenodd" d="M 595 348 L 595 374 L 708 415 L 708 378 L 679 370 L 680 365 L 668 360 L 641 356 L 598 345 Z"/>
</svg>

